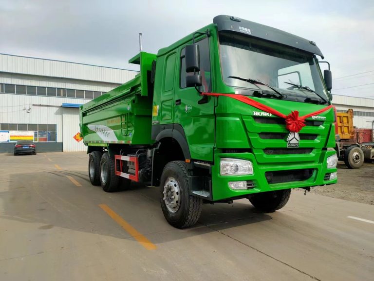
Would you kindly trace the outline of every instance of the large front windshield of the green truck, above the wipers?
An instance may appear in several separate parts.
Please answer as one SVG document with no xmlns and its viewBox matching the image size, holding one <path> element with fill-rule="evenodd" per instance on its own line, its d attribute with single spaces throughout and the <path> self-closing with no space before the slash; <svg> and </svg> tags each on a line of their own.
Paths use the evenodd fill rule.
<svg viewBox="0 0 374 281">
<path fill-rule="evenodd" d="M 272 91 L 266 85 L 233 78 L 242 77 L 261 80 L 284 94 L 285 100 L 314 100 L 321 103 L 328 100 L 318 62 L 312 54 L 265 40 L 223 32 L 220 33 L 220 56 L 224 82 L 235 87 L 236 93 L 251 95 L 256 90 Z M 309 87 L 323 99 L 298 86 Z"/>
</svg>

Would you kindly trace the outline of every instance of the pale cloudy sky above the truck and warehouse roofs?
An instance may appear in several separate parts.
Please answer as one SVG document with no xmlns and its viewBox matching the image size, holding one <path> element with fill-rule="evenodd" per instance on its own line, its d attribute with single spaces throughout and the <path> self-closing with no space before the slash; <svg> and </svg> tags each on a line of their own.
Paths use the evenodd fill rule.
<svg viewBox="0 0 374 281">
<path fill-rule="evenodd" d="M 0 53 L 138 70 L 138 33 L 157 53 L 223 14 L 315 41 L 333 94 L 374 98 L 373 0 L 0 0 Z"/>
</svg>

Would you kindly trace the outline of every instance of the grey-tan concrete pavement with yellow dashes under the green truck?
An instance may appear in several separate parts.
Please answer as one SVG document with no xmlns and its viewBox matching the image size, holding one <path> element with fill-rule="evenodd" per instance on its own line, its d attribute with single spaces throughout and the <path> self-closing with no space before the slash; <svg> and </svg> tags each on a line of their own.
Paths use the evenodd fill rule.
<svg viewBox="0 0 374 281">
<path fill-rule="evenodd" d="M 0 155 L 1 281 L 373 280 L 374 224 L 348 218 L 374 221 L 373 205 L 294 190 L 275 213 L 206 204 L 178 230 L 157 188 L 105 193 L 87 165 L 84 153 Z"/>
</svg>

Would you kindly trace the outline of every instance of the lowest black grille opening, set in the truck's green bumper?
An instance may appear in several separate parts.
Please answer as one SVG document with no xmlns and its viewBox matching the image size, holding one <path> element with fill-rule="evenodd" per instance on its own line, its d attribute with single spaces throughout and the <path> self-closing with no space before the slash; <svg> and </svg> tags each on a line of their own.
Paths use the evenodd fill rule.
<svg viewBox="0 0 374 281">
<path fill-rule="evenodd" d="M 313 172 L 314 169 L 272 171 L 266 172 L 265 177 L 268 183 L 306 181 L 312 177 Z"/>
</svg>

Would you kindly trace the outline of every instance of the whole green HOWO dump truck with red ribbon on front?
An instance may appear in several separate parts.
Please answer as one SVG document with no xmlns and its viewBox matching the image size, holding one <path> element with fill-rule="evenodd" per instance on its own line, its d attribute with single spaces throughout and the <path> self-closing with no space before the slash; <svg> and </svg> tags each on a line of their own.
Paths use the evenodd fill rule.
<svg viewBox="0 0 374 281">
<path fill-rule="evenodd" d="M 292 188 L 337 182 L 331 72 L 316 43 L 230 16 L 140 52 L 133 80 L 80 108 L 89 178 L 104 191 L 160 186 L 166 220 L 204 203 L 283 207 Z"/>
</svg>

